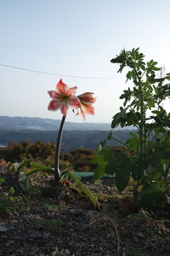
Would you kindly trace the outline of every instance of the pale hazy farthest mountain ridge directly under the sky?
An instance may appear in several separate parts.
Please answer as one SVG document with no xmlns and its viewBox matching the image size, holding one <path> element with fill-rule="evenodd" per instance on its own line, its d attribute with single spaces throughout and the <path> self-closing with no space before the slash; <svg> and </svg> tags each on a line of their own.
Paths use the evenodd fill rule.
<svg viewBox="0 0 170 256">
<path fill-rule="evenodd" d="M 37 130 L 56 131 L 59 130 L 60 120 L 41 119 L 33 117 L 9 117 L 0 116 L 0 130 Z M 103 123 L 73 123 L 65 122 L 65 131 L 110 131 L 111 124 Z"/>
</svg>

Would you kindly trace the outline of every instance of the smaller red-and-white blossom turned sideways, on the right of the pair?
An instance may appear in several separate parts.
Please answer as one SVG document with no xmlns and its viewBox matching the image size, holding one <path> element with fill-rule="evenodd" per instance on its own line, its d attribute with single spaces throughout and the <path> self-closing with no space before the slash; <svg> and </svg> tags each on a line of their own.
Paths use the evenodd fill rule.
<svg viewBox="0 0 170 256">
<path fill-rule="evenodd" d="M 93 94 L 93 92 L 85 92 L 77 96 L 80 100 L 80 113 L 84 120 L 86 119 L 86 113 L 94 114 L 94 106 L 92 106 L 92 104 L 95 102 L 96 98 L 94 98 Z M 79 109 L 77 114 L 79 114 Z"/>
</svg>

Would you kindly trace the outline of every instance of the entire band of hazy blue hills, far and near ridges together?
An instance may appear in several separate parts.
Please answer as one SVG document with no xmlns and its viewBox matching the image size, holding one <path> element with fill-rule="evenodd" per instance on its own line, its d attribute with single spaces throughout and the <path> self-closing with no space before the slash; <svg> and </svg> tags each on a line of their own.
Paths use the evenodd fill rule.
<svg viewBox="0 0 170 256">
<path fill-rule="evenodd" d="M 44 143 L 55 142 L 59 125 L 60 120 L 54 119 L 0 116 L 0 145 L 7 146 L 8 143 L 21 143 L 26 140 L 32 143 L 37 140 Z M 130 137 L 129 131 L 136 132 L 132 127 L 128 127 L 130 128 L 131 130 L 116 129 L 114 136 L 125 143 Z M 108 136 L 109 131 L 111 124 L 65 122 L 61 150 L 70 152 L 77 148 L 96 149 Z M 109 144 L 121 145 L 113 140 Z"/>
</svg>

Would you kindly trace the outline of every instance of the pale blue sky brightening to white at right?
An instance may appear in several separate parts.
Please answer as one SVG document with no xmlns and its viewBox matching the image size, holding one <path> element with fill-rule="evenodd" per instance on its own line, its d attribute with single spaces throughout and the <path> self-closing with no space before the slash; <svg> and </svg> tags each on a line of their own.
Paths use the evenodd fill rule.
<svg viewBox="0 0 170 256">
<path fill-rule="evenodd" d="M 122 49 L 139 47 L 170 73 L 169 10 L 169 0 L 0 0 L 0 64 L 60 74 L 0 66 L 0 115 L 61 119 L 47 91 L 63 79 L 94 92 L 87 122 L 111 123 L 127 88 L 111 63 Z M 66 120 L 83 122 L 71 110 Z"/>
</svg>

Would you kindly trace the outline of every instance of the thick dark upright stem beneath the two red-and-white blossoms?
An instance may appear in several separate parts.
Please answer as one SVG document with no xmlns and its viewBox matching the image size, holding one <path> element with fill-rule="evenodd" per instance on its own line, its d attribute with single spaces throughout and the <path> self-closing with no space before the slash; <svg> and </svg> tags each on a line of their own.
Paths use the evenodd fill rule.
<svg viewBox="0 0 170 256">
<path fill-rule="evenodd" d="M 59 126 L 59 133 L 57 137 L 57 142 L 55 146 L 55 160 L 54 160 L 54 181 L 59 181 L 60 179 L 60 171 L 59 171 L 59 153 L 60 153 L 60 143 L 61 143 L 61 137 L 63 133 L 63 126 L 65 124 L 65 118 L 66 116 L 63 116 L 60 126 Z"/>
</svg>

